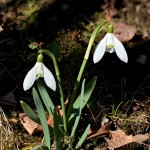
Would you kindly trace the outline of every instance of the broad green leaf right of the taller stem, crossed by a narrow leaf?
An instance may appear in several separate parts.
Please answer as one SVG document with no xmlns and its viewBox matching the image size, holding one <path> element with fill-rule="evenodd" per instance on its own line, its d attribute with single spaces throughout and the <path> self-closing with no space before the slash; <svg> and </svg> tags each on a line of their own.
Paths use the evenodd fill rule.
<svg viewBox="0 0 150 150">
<path fill-rule="evenodd" d="M 82 109 L 87 104 L 87 102 L 94 90 L 94 87 L 96 85 L 96 81 L 97 81 L 97 77 L 93 77 L 91 79 L 91 81 L 85 86 L 84 98 L 83 98 L 84 101 L 83 101 L 82 107 L 81 107 Z M 78 96 L 78 98 L 76 99 L 76 101 L 73 104 L 73 112 L 69 118 L 69 121 L 71 121 L 71 122 L 72 122 L 72 119 L 74 119 L 74 117 L 76 116 L 76 110 L 78 110 L 80 107 L 80 97 L 81 97 L 81 95 Z"/>
</svg>

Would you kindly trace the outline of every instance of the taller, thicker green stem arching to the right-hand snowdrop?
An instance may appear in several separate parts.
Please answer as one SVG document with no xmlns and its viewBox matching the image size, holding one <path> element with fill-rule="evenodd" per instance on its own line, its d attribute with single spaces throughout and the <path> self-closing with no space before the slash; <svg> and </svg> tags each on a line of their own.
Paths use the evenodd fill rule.
<svg viewBox="0 0 150 150">
<path fill-rule="evenodd" d="M 91 48 L 93 46 L 94 40 L 95 40 L 97 34 L 103 29 L 103 27 L 108 26 L 109 24 L 110 23 L 108 23 L 106 20 L 102 20 L 101 23 L 95 28 L 95 30 L 93 31 L 93 33 L 90 37 L 90 41 L 89 41 L 89 44 L 88 44 L 88 47 L 87 47 L 87 50 L 86 50 L 81 68 L 79 70 L 79 74 L 78 74 L 78 77 L 77 77 L 77 80 L 76 80 L 76 83 L 75 83 L 75 86 L 74 86 L 73 94 L 71 96 L 71 100 L 70 100 L 70 103 L 69 103 L 68 112 L 67 112 L 67 121 L 69 120 L 69 117 L 71 115 L 72 108 L 73 108 L 73 103 L 75 101 L 76 94 L 77 94 L 77 91 L 78 91 L 78 87 L 79 87 L 79 84 L 80 84 L 80 81 L 81 81 L 81 77 L 83 75 L 83 71 L 85 69 L 87 60 L 89 59 L 90 51 L 91 51 Z"/>
</svg>

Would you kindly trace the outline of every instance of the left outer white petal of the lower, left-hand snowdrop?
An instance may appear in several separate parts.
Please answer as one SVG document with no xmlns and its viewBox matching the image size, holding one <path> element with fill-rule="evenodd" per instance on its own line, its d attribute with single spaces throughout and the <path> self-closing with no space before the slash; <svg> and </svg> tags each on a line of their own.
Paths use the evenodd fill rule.
<svg viewBox="0 0 150 150">
<path fill-rule="evenodd" d="M 37 67 L 37 63 L 25 76 L 25 79 L 23 81 L 23 89 L 25 91 L 30 89 L 31 86 L 34 84 L 34 81 L 36 80 L 36 67 Z"/>
</svg>

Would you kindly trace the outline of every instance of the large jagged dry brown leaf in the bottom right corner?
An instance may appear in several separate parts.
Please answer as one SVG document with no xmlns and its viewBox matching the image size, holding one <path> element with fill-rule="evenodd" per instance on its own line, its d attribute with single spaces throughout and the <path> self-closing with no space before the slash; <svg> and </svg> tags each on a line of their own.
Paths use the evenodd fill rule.
<svg viewBox="0 0 150 150">
<path fill-rule="evenodd" d="M 139 144 L 142 144 L 149 139 L 148 134 L 139 134 L 136 136 L 132 135 L 126 135 L 124 131 L 117 130 L 117 131 L 110 131 L 111 139 L 106 138 L 109 145 L 109 149 L 119 149 L 123 147 L 127 147 L 130 145 L 130 148 L 135 148 L 135 146 L 138 146 Z"/>
</svg>

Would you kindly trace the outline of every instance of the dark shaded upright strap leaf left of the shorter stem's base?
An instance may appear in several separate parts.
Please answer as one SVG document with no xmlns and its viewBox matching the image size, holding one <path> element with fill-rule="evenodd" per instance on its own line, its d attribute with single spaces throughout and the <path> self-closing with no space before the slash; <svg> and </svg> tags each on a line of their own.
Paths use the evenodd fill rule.
<svg viewBox="0 0 150 150">
<path fill-rule="evenodd" d="M 54 122 L 54 136 L 56 142 L 56 150 L 60 150 L 61 149 L 60 129 L 59 129 L 58 115 L 56 109 L 54 109 L 53 122 Z"/>
</svg>

